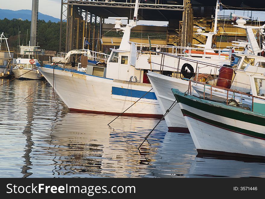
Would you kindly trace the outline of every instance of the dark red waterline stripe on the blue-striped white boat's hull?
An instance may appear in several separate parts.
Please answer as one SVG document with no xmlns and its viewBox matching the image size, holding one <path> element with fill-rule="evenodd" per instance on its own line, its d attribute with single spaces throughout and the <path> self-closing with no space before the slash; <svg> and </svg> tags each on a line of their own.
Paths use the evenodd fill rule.
<svg viewBox="0 0 265 199">
<path fill-rule="evenodd" d="M 75 113 L 94 113 L 94 114 L 103 114 L 103 115 L 120 115 L 120 113 L 114 113 L 114 112 L 104 112 L 104 111 L 89 111 L 89 110 L 82 110 L 82 109 L 75 109 L 75 108 L 69 108 L 70 112 Z M 161 119 L 163 115 L 156 115 L 156 114 L 140 114 L 140 113 L 123 113 L 121 116 L 126 117 L 144 117 L 144 118 L 154 118 L 154 119 Z"/>
</svg>

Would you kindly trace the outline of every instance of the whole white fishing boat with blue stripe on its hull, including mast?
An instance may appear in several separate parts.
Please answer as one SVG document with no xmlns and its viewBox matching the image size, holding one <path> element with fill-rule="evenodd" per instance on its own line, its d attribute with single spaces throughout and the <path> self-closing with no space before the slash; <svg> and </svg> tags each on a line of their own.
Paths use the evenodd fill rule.
<svg viewBox="0 0 265 199">
<path fill-rule="evenodd" d="M 162 117 L 154 91 L 151 85 L 144 81 L 144 77 L 148 69 L 160 72 L 161 65 L 157 62 L 160 62 L 163 56 L 153 53 L 151 60 L 148 60 L 150 53 L 143 52 L 144 44 L 129 41 L 131 29 L 137 25 L 138 6 L 139 2 L 136 1 L 133 21 L 126 26 L 123 26 L 121 22 L 125 18 L 112 18 L 116 20 L 115 28 L 124 34 L 119 49 L 111 49 L 107 68 L 94 67 L 93 70 L 87 69 L 86 72 L 82 72 L 57 66 L 38 65 L 39 71 L 54 87 L 70 111 L 119 115 L 130 107 L 126 113 L 123 113 L 124 116 Z M 176 54 L 178 49 L 182 48 L 163 47 L 167 48 L 167 51 L 171 49 L 171 54 Z M 156 48 L 163 50 L 162 46 L 156 46 Z M 207 49 L 203 50 L 207 52 Z M 189 58 L 189 56 L 192 57 L 191 54 L 185 53 L 185 56 Z M 214 62 L 229 62 L 227 55 L 221 55 L 221 50 L 217 54 L 199 54 L 199 56 L 204 60 L 209 59 L 204 56 L 213 56 L 211 60 L 215 60 Z M 174 73 L 179 66 L 176 61 L 174 57 L 164 59 L 163 70 Z M 206 67 L 204 70 L 205 73 L 211 72 Z"/>
</svg>

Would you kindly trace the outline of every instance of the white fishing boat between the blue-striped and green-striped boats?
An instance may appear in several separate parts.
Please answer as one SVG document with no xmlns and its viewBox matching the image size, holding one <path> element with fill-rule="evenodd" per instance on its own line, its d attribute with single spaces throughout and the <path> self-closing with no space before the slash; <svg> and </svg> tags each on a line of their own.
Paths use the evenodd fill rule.
<svg viewBox="0 0 265 199">
<path fill-rule="evenodd" d="M 255 29 L 263 29 L 265 25 L 255 27 L 255 26 L 246 26 L 244 25 L 246 23 L 245 20 L 242 18 L 238 19 L 237 22 L 239 25 L 235 25 L 236 27 L 243 28 L 246 31 L 247 38 L 249 41 L 248 46 L 245 48 L 243 53 L 232 53 L 233 61 L 231 60 L 231 63 L 229 65 L 224 65 L 223 67 L 231 67 L 230 74 L 228 75 L 231 79 L 229 80 L 230 84 L 226 85 L 227 88 L 230 88 L 232 90 L 241 91 L 244 93 L 250 93 L 251 86 L 249 79 L 244 71 L 245 67 L 250 64 L 251 66 L 256 67 L 264 67 L 265 66 L 265 57 L 261 56 L 263 50 L 260 50 L 259 45 L 257 43 L 257 40 L 255 38 L 255 35 L 253 33 L 253 30 Z M 251 51 L 251 54 L 248 54 L 249 51 Z M 163 53 L 164 56 L 174 56 L 170 55 L 168 53 Z M 198 59 L 186 59 L 186 57 L 179 57 L 175 56 L 175 58 L 179 60 L 186 60 L 189 61 L 189 64 L 195 66 L 196 70 L 196 79 L 200 76 L 199 73 L 204 73 L 201 71 L 201 69 L 196 66 L 198 66 L 198 63 L 200 63 L 201 67 L 207 68 L 207 66 L 211 66 L 212 68 L 215 68 L 212 74 L 214 76 L 219 75 L 219 73 L 215 73 L 215 71 L 219 71 L 219 69 L 222 67 L 220 65 L 214 65 L 206 62 L 198 61 Z M 179 61 L 180 62 L 180 61 Z M 170 107 L 171 104 L 175 101 L 175 98 L 171 92 L 171 88 L 179 89 L 179 91 L 185 92 L 188 89 L 189 83 L 184 80 L 183 78 L 179 78 L 180 74 L 182 73 L 183 69 L 180 69 L 180 67 L 177 67 L 176 72 L 174 72 L 174 75 L 172 77 L 165 76 L 162 74 L 157 74 L 154 72 L 148 71 L 148 78 L 151 82 L 152 87 L 154 88 L 155 94 L 157 96 L 157 100 L 159 101 L 159 104 L 161 106 L 163 114 L 166 113 L 166 110 Z M 225 72 L 226 73 L 226 72 Z M 233 75 L 234 74 L 234 75 Z M 185 76 L 184 76 L 185 77 Z M 209 76 L 208 76 L 209 77 Z M 194 75 L 189 75 L 188 79 L 195 78 Z M 207 79 L 207 76 L 204 76 L 205 79 Z M 225 78 L 227 79 L 227 78 Z M 209 80 L 209 79 L 208 79 Z M 216 84 L 216 83 L 215 83 Z M 201 85 L 198 85 L 201 86 Z M 197 88 L 198 90 L 198 88 Z M 198 95 L 198 93 L 191 87 L 192 95 Z M 216 93 L 217 94 L 217 93 Z M 209 95 L 209 93 L 206 93 L 206 95 Z M 218 96 L 220 96 L 218 94 Z M 220 96 L 222 97 L 222 96 Z M 176 120 L 176 117 L 178 120 Z M 171 132 L 189 132 L 188 127 L 186 123 L 184 122 L 183 115 L 180 111 L 180 108 L 178 105 L 175 105 L 171 111 L 166 115 L 165 117 L 166 123 L 168 125 L 168 129 Z"/>
</svg>

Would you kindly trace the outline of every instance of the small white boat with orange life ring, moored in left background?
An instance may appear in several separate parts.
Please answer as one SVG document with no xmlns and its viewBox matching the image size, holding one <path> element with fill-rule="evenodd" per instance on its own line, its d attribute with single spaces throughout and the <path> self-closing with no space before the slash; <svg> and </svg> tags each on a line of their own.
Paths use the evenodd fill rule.
<svg viewBox="0 0 265 199">
<path fill-rule="evenodd" d="M 42 79 L 43 76 L 36 67 L 37 59 L 17 58 L 12 69 L 16 79 Z"/>
</svg>

